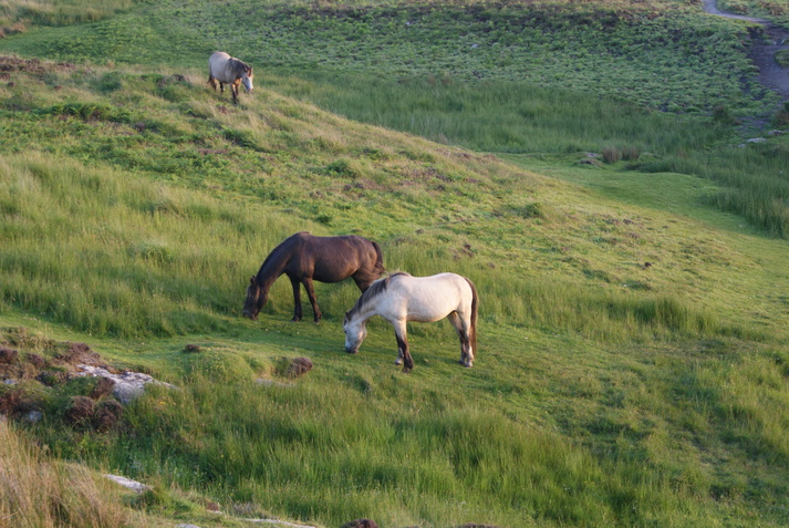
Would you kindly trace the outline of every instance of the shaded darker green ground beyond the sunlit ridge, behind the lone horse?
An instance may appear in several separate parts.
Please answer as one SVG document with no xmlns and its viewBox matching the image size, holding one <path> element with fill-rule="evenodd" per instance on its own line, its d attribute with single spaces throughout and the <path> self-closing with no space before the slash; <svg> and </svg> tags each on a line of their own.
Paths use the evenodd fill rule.
<svg viewBox="0 0 789 528">
<path fill-rule="evenodd" d="M 757 33 L 671 1 L 167 1 L 92 24 L 35 29 L 1 40 L 0 50 L 183 69 L 205 68 L 212 50 L 225 49 L 279 93 L 440 143 L 661 156 L 640 166 L 716 180 L 723 188 L 714 204 L 786 238 L 787 142 L 740 149 L 730 126 L 748 128 L 754 115 L 779 128 L 789 121 L 747 59 Z M 733 148 L 720 148 L 724 142 Z M 718 145 L 712 157 L 710 145 Z"/>
</svg>

